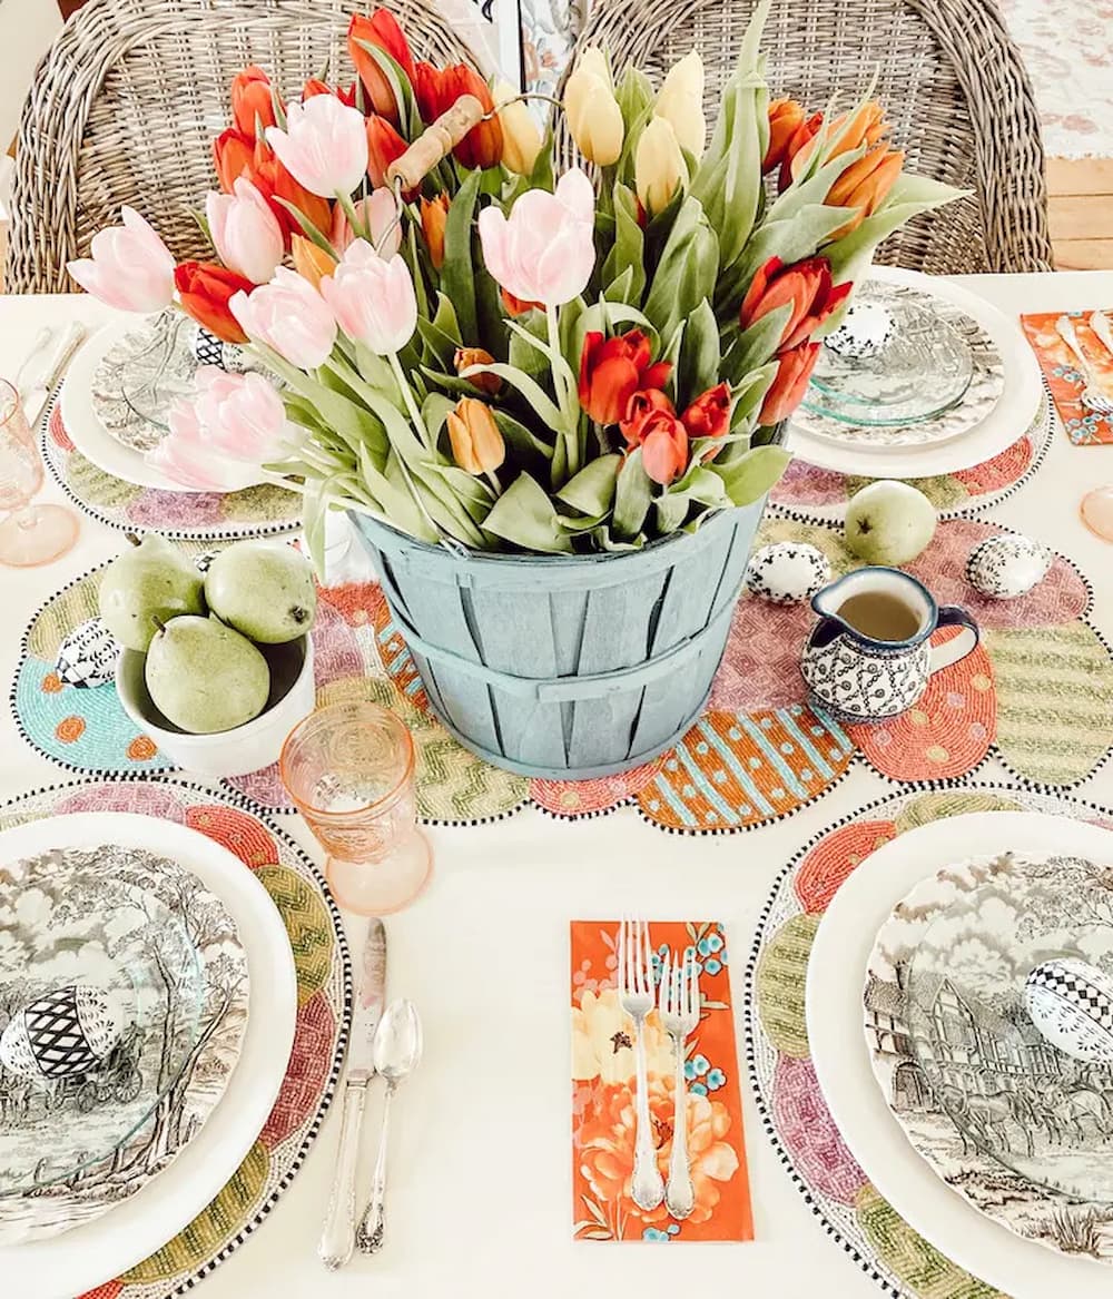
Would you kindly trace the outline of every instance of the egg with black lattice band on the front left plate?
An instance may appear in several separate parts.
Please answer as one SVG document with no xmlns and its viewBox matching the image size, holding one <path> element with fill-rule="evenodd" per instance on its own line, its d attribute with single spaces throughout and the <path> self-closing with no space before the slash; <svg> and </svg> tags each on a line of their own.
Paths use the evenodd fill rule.
<svg viewBox="0 0 1113 1299">
<path fill-rule="evenodd" d="M 87 983 L 47 992 L 0 1034 L 0 1064 L 21 1078 L 73 1078 L 96 1069 L 123 1024 L 112 999 Z"/>
</svg>

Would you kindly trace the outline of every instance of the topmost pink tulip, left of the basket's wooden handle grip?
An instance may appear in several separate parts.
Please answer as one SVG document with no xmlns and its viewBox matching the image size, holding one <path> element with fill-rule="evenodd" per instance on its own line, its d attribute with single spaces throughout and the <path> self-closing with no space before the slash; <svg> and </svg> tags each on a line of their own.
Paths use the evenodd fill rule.
<svg viewBox="0 0 1113 1299">
<path fill-rule="evenodd" d="M 314 95 L 305 104 L 291 104 L 286 130 L 268 126 L 266 143 L 299 184 L 325 199 L 351 194 L 368 170 L 364 114 L 335 95 Z"/>
</svg>

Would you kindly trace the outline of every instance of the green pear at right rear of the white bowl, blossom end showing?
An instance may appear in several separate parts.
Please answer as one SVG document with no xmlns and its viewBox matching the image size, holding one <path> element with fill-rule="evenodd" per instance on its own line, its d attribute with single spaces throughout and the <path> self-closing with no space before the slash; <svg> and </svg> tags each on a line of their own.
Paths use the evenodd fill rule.
<svg viewBox="0 0 1113 1299">
<path fill-rule="evenodd" d="M 317 614 L 313 566 L 292 546 L 274 542 L 221 551 L 205 574 L 205 599 L 218 618 L 258 644 L 296 640 Z"/>
</svg>

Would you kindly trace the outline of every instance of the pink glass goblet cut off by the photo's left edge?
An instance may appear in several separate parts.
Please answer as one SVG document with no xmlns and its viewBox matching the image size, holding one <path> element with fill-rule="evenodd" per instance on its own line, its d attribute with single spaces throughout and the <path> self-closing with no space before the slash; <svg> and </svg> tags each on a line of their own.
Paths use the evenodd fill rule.
<svg viewBox="0 0 1113 1299">
<path fill-rule="evenodd" d="M 78 520 L 61 505 L 32 505 L 43 486 L 43 461 L 19 394 L 0 379 L 0 564 L 35 568 L 65 555 L 77 540 Z"/>
</svg>

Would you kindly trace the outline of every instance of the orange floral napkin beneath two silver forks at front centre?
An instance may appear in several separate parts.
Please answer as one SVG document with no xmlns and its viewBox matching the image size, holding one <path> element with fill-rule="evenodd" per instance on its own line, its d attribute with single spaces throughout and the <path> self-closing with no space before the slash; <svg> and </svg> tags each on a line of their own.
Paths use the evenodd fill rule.
<svg viewBox="0 0 1113 1299">
<path fill-rule="evenodd" d="M 742 1128 L 739 1061 L 722 926 L 653 921 L 655 979 L 669 948 L 696 950 L 703 1009 L 686 1043 L 688 1155 L 696 1207 L 683 1222 L 661 1204 L 643 1212 L 630 1196 L 634 1172 L 632 1025 L 618 1005 L 617 921 L 571 925 L 573 1222 L 578 1241 L 752 1241 L 753 1216 Z M 656 1011 L 645 1021 L 649 1113 L 661 1176 L 673 1137 L 673 1043 Z"/>
</svg>

